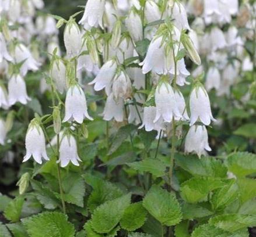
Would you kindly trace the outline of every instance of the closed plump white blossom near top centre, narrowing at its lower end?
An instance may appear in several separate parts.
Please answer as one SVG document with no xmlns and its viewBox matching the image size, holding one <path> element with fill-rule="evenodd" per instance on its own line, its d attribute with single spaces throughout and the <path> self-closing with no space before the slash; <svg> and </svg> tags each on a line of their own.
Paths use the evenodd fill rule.
<svg viewBox="0 0 256 237">
<path fill-rule="evenodd" d="M 125 20 L 125 25 L 134 41 L 140 41 L 143 38 L 143 27 L 141 17 L 135 10 L 131 10 L 127 19 Z"/>
</svg>

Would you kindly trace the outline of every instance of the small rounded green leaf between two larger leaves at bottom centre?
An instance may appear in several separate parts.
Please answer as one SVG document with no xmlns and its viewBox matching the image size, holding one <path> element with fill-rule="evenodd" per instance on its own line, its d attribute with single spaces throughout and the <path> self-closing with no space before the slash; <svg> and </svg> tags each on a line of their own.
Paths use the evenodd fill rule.
<svg viewBox="0 0 256 237">
<path fill-rule="evenodd" d="M 130 204 L 124 211 L 120 224 L 127 231 L 135 231 L 142 227 L 146 220 L 147 211 L 142 206 L 142 203 Z"/>
</svg>

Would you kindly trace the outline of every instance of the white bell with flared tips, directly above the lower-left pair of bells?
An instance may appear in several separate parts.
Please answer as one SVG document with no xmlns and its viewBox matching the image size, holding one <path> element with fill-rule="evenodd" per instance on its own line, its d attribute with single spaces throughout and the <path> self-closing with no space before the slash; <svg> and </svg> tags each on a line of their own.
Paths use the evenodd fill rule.
<svg viewBox="0 0 256 237">
<path fill-rule="evenodd" d="M 85 93 L 78 84 L 71 85 L 66 93 L 65 117 L 63 122 L 76 121 L 82 124 L 85 118 L 93 120 L 87 112 Z"/>
</svg>

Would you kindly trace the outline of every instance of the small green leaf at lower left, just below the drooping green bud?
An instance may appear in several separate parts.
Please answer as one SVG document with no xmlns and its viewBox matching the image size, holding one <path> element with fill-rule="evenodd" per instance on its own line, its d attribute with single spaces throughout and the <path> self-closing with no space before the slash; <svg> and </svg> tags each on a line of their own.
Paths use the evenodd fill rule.
<svg viewBox="0 0 256 237">
<path fill-rule="evenodd" d="M 12 222 L 19 221 L 20 214 L 22 213 L 23 203 L 24 198 L 22 196 L 18 196 L 9 202 L 4 212 L 5 217 Z"/>
</svg>

